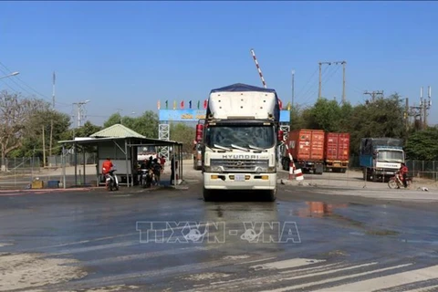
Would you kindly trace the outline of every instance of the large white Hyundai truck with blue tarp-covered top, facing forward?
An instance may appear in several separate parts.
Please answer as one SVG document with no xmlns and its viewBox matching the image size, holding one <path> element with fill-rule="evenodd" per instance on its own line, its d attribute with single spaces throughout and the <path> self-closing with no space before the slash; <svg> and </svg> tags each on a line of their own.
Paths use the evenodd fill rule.
<svg viewBox="0 0 438 292">
<path fill-rule="evenodd" d="M 203 125 L 203 199 L 247 190 L 276 200 L 279 129 L 276 90 L 234 84 L 210 92 Z"/>
</svg>

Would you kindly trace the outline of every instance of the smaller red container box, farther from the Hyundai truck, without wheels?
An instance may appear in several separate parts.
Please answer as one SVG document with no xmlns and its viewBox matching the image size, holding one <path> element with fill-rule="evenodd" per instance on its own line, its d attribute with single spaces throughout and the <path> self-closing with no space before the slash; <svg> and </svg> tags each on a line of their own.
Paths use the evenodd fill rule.
<svg viewBox="0 0 438 292">
<path fill-rule="evenodd" d="M 349 133 L 327 133 L 326 161 L 349 161 Z"/>
</svg>

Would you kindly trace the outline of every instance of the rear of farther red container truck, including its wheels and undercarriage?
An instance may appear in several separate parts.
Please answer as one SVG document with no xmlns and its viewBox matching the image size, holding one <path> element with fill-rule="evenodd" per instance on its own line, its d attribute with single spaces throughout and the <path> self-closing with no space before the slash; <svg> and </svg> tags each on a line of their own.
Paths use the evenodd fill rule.
<svg viewBox="0 0 438 292">
<path fill-rule="evenodd" d="M 347 172 L 349 167 L 349 133 L 326 133 L 324 162 L 326 171 Z"/>
</svg>

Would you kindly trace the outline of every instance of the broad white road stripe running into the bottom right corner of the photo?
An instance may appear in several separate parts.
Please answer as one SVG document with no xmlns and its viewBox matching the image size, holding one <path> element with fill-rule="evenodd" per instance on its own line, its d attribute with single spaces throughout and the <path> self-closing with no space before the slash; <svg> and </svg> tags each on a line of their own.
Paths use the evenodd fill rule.
<svg viewBox="0 0 438 292">
<path fill-rule="evenodd" d="M 375 291 L 390 287 L 410 284 L 418 281 L 427 281 L 438 277 L 438 266 L 428 266 L 420 269 L 401 272 L 395 275 L 379 276 L 368 280 L 363 280 L 351 284 L 321 289 L 322 291 Z M 429 287 L 430 288 L 430 287 Z"/>
</svg>

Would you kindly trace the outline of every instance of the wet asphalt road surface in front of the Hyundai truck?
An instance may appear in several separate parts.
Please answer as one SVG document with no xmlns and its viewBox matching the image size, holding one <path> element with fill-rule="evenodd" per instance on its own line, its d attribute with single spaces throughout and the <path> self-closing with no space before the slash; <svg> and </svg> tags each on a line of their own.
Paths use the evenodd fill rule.
<svg viewBox="0 0 438 292">
<path fill-rule="evenodd" d="M 204 203 L 190 182 L 0 196 L 0 291 L 438 290 L 438 203 L 290 185 Z"/>
</svg>

